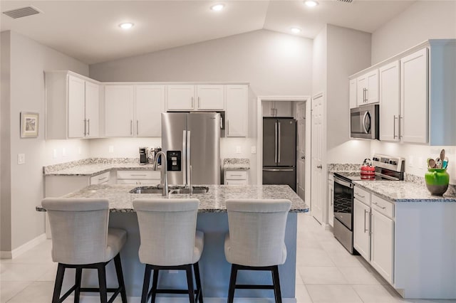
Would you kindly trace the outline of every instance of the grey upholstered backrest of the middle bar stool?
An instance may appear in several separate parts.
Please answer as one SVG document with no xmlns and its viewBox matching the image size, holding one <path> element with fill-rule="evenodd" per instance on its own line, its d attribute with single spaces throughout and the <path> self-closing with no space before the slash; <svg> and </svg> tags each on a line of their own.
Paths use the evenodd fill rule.
<svg viewBox="0 0 456 303">
<path fill-rule="evenodd" d="M 191 264 L 198 206 L 198 199 L 135 199 L 140 261 L 161 266 Z"/>
</svg>

